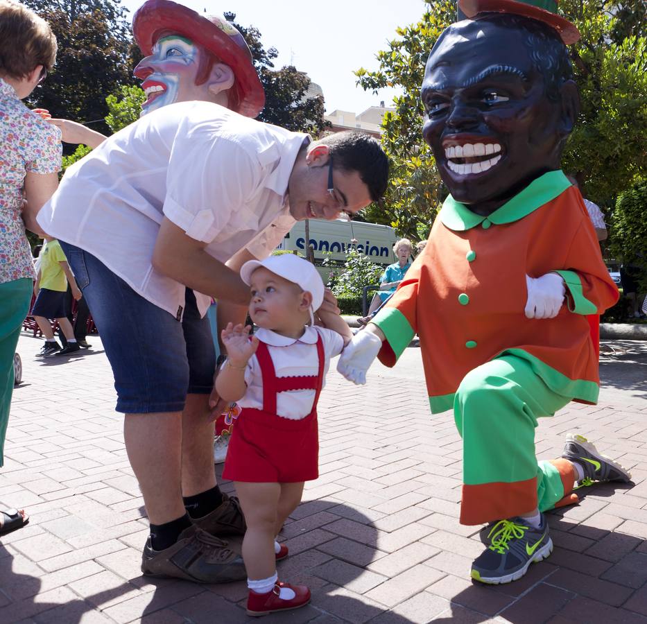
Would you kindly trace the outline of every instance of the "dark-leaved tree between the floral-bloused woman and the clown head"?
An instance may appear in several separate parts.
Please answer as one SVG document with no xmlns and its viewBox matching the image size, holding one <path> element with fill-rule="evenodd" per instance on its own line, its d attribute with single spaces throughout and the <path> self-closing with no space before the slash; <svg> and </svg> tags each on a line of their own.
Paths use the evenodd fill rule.
<svg viewBox="0 0 647 624">
<path fill-rule="evenodd" d="M 52 116 L 107 133 L 105 96 L 132 85 L 132 41 L 119 0 L 26 0 L 58 41 L 54 70 L 28 99 Z M 136 46 L 135 46 L 136 47 Z"/>
</svg>

